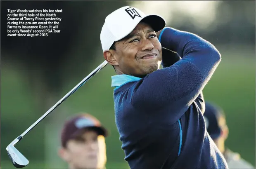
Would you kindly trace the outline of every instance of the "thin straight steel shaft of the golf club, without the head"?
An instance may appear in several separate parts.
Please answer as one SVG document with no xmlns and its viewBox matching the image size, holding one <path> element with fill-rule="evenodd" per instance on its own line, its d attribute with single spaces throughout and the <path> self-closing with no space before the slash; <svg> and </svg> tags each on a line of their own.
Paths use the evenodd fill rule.
<svg viewBox="0 0 256 169">
<path fill-rule="evenodd" d="M 94 76 L 96 73 L 98 73 L 102 68 L 104 68 L 107 65 L 107 61 L 104 61 L 100 64 L 97 68 L 95 68 L 88 76 L 86 76 L 80 83 L 78 83 L 69 93 L 67 93 L 62 99 L 60 99 L 52 108 L 50 108 L 44 115 L 42 115 L 36 122 L 34 122 L 26 131 L 24 131 L 20 136 L 23 138 L 31 129 L 33 129 L 40 121 L 42 121 L 47 115 L 49 115 L 52 110 L 57 108 L 63 101 L 65 101 L 71 94 L 76 92 L 77 89 L 79 89 L 81 86 L 85 84 L 92 76 Z"/>
</svg>

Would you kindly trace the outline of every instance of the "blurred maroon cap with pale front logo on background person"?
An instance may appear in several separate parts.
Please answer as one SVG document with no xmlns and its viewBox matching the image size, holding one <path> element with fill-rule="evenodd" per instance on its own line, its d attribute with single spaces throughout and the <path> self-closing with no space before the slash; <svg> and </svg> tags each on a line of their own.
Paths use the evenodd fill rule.
<svg viewBox="0 0 256 169">
<path fill-rule="evenodd" d="M 99 135 L 107 136 L 107 129 L 105 129 L 99 120 L 88 113 L 78 114 L 71 119 L 67 120 L 61 133 L 62 146 L 66 147 L 67 141 L 74 138 L 83 129 L 93 129 Z"/>
</svg>

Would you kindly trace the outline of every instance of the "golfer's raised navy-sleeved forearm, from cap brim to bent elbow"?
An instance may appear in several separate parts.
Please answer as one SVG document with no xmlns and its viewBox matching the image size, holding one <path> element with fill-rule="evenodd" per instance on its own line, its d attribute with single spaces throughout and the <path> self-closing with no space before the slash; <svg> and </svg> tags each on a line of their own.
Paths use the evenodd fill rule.
<svg viewBox="0 0 256 169">
<path fill-rule="evenodd" d="M 177 52 L 181 58 L 193 63 L 204 78 L 213 73 L 221 60 L 220 53 L 210 42 L 193 33 L 166 27 L 159 34 L 159 41 L 162 47 Z"/>
</svg>

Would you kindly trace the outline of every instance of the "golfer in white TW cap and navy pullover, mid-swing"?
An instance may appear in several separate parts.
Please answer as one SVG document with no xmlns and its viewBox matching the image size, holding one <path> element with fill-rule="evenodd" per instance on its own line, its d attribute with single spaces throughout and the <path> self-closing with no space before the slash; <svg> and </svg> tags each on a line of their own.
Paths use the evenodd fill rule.
<svg viewBox="0 0 256 169">
<path fill-rule="evenodd" d="M 125 160 L 131 169 L 227 169 L 203 117 L 202 90 L 220 53 L 197 35 L 165 26 L 161 16 L 121 7 L 102 27 L 103 56 L 117 74 L 111 86 Z M 173 64 L 162 47 L 182 59 Z"/>
</svg>

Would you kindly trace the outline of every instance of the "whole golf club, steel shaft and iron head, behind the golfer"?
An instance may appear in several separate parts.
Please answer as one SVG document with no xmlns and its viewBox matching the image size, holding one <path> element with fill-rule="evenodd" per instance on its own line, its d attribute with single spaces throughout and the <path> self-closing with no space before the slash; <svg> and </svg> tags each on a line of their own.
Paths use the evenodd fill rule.
<svg viewBox="0 0 256 169">
<path fill-rule="evenodd" d="M 52 112 L 52 110 L 57 108 L 63 101 L 65 101 L 69 96 L 71 96 L 71 94 L 73 94 L 74 92 L 76 92 L 77 89 L 83 86 L 85 82 L 87 82 L 92 76 L 94 76 L 102 68 L 104 68 L 104 66 L 106 66 L 107 63 L 108 63 L 107 61 L 104 61 L 102 64 L 100 64 L 100 66 L 95 68 L 88 76 L 86 76 L 80 83 L 78 83 L 78 85 L 76 85 L 69 93 L 67 93 L 54 106 L 52 106 L 52 108 L 50 108 L 43 116 L 41 116 L 38 120 L 36 120 L 36 122 L 34 122 L 30 127 L 28 127 L 28 129 L 26 129 L 26 131 L 24 131 L 20 136 L 15 138 L 14 141 L 12 141 L 12 143 L 10 143 L 7 146 L 6 150 L 9 155 L 9 158 L 12 160 L 12 164 L 14 165 L 14 167 L 22 168 L 28 165 L 28 159 L 26 159 L 26 157 L 24 157 L 24 155 L 22 155 L 19 152 L 19 150 L 17 150 L 17 148 L 14 147 L 21 140 L 21 138 L 23 138 L 26 134 L 28 134 L 28 132 L 31 131 L 31 129 L 33 129 L 40 121 L 42 121 L 47 115 L 49 115 Z"/>
</svg>

